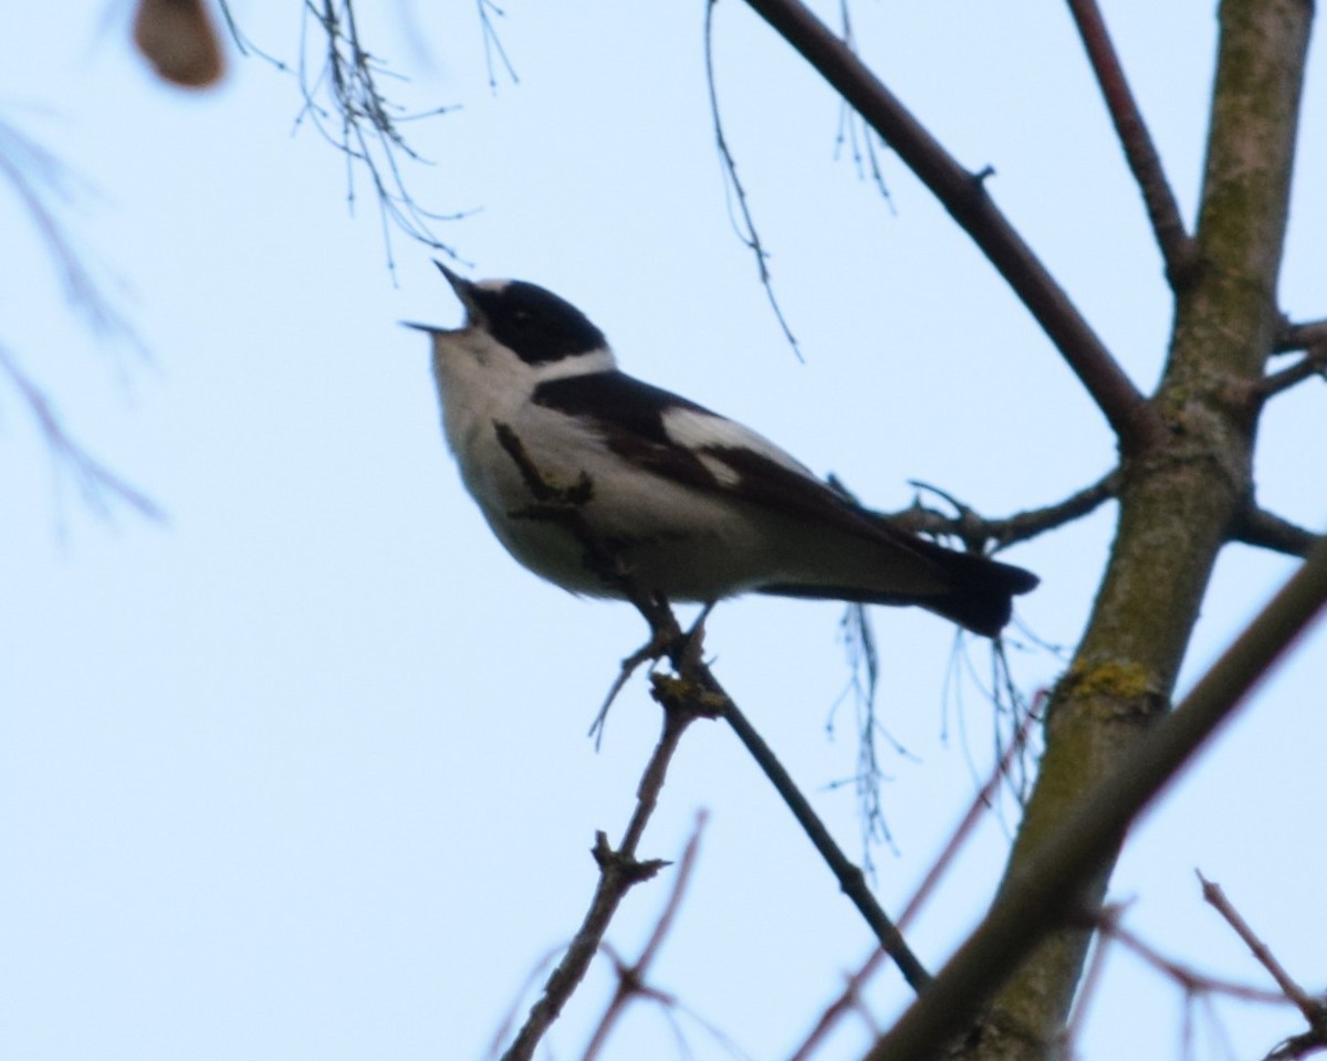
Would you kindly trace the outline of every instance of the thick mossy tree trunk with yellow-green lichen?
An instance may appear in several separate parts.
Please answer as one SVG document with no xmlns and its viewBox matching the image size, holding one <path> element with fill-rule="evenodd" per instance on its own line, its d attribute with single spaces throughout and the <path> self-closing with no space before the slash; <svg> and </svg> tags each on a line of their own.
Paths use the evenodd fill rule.
<svg viewBox="0 0 1327 1061">
<path fill-rule="evenodd" d="M 1046 756 L 1006 879 L 1169 706 L 1213 564 L 1251 496 L 1255 385 L 1281 321 L 1277 277 L 1311 17 L 1310 0 L 1221 4 L 1198 264 L 1177 292 L 1152 399 L 1168 430 L 1124 468 L 1109 565 L 1051 698 Z M 1100 866 L 1085 902 L 1100 903 L 1112 865 Z M 1087 931 L 1063 931 L 1043 944 L 955 1056 L 1054 1056 L 1088 942 Z"/>
</svg>

